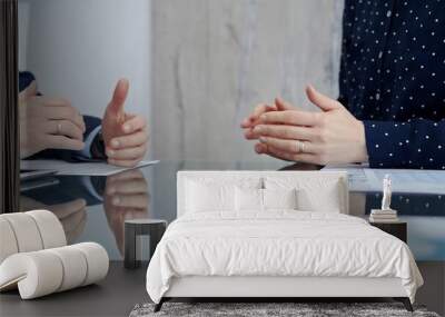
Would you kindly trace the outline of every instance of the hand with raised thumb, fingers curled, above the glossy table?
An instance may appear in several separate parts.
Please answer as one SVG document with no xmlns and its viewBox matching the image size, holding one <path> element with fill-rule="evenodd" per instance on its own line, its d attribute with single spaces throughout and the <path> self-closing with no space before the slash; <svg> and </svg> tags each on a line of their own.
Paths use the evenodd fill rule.
<svg viewBox="0 0 445 317">
<path fill-rule="evenodd" d="M 134 167 L 147 151 L 147 123 L 141 116 L 126 113 L 125 101 L 129 83 L 120 79 L 102 120 L 102 135 L 108 162 Z"/>
</svg>

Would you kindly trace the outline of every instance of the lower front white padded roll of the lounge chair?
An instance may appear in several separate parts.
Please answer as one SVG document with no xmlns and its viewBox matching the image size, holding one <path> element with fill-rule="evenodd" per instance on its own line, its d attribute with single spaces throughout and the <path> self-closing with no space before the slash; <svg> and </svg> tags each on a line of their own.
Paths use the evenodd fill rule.
<svg viewBox="0 0 445 317">
<path fill-rule="evenodd" d="M 108 267 L 107 251 L 95 242 L 16 254 L 0 265 L 0 290 L 17 284 L 21 298 L 31 299 L 96 283 Z"/>
</svg>

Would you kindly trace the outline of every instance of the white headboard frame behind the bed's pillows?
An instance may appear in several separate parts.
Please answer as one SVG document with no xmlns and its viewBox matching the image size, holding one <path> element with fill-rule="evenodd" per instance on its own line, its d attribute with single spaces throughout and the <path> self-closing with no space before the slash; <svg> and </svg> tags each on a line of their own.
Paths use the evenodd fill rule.
<svg viewBox="0 0 445 317">
<path fill-rule="evenodd" d="M 265 177 L 286 177 L 286 178 L 306 178 L 306 179 L 338 179 L 339 181 L 339 204 L 342 214 L 349 214 L 349 194 L 346 171 L 254 171 L 254 170 L 181 170 L 177 174 L 177 216 L 182 216 L 186 205 L 186 184 L 192 179 L 234 179 L 237 178 L 258 178 Z"/>
</svg>

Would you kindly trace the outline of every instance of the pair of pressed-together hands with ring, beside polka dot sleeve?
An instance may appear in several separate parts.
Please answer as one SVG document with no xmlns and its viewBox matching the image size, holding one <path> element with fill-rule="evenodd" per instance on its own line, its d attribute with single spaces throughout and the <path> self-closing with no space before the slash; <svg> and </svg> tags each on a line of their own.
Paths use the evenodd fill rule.
<svg viewBox="0 0 445 317">
<path fill-rule="evenodd" d="M 277 98 L 258 105 L 241 122 L 255 150 L 278 159 L 315 165 L 368 160 L 365 128 L 342 103 L 306 88 L 308 100 L 322 111 L 305 111 Z"/>
</svg>

